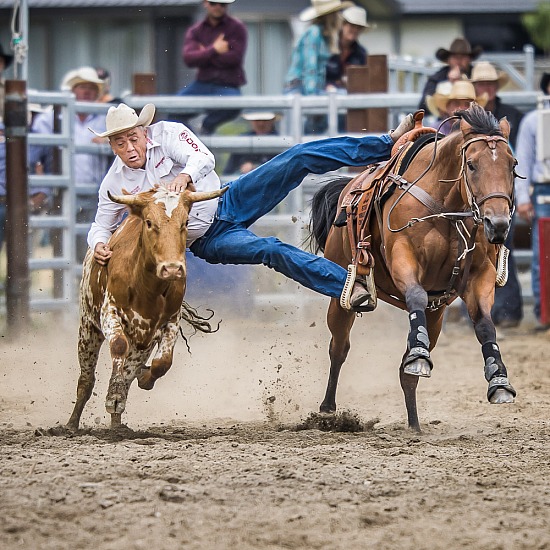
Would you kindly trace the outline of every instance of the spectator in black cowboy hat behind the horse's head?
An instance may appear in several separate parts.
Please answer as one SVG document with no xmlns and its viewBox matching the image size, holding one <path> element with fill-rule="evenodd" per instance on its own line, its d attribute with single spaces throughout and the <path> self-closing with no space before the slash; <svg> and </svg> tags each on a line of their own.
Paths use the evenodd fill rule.
<svg viewBox="0 0 550 550">
<path fill-rule="evenodd" d="M 464 75 L 470 78 L 472 62 L 481 55 L 482 51 L 481 46 L 472 48 L 470 43 L 462 37 L 455 38 L 448 50 L 439 48 L 435 52 L 435 57 L 446 65 L 428 78 L 418 108 L 424 109 L 424 111 L 428 109 L 426 97 L 435 93 L 435 89 L 440 82 L 445 80 L 451 83 L 456 82 L 462 79 Z"/>
</svg>

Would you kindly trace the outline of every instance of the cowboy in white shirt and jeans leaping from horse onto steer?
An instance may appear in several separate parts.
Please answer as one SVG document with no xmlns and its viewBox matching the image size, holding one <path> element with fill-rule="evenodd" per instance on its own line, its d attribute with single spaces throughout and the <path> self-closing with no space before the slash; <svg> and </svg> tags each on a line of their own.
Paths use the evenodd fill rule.
<svg viewBox="0 0 550 550">
<path fill-rule="evenodd" d="M 122 221 L 125 207 L 111 195 L 147 191 L 164 185 L 169 191 L 187 187 L 212 191 L 220 187 L 214 156 L 183 124 L 150 125 L 155 107 L 147 104 L 140 115 L 121 103 L 107 113 L 106 131 L 116 159 L 99 189 L 95 221 L 88 245 L 95 260 L 105 265 L 111 256 L 108 241 Z M 396 130 L 381 137 L 338 137 L 291 147 L 252 172 L 227 184 L 219 199 L 193 205 L 189 214 L 188 246 L 196 256 L 216 264 L 263 264 L 325 296 L 340 299 L 354 311 L 371 311 L 374 289 L 366 279 L 348 280 L 347 271 L 320 256 L 258 237 L 248 228 L 277 206 L 309 174 L 324 174 L 344 166 L 365 166 L 387 160 L 395 141 L 414 127 L 407 115 Z M 347 281 L 347 284 L 346 284 Z M 350 292 L 351 290 L 351 292 Z"/>
</svg>

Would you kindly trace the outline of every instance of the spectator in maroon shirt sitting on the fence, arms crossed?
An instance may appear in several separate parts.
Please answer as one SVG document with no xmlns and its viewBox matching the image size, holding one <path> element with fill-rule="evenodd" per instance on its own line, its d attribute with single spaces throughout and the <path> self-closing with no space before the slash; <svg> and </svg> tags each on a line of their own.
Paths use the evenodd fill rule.
<svg viewBox="0 0 550 550">
<path fill-rule="evenodd" d="M 227 15 L 228 4 L 234 1 L 203 0 L 206 18 L 189 28 L 182 51 L 185 64 L 197 68 L 196 80 L 178 95 L 241 95 L 241 86 L 246 84 L 243 64 L 248 35 L 241 21 Z M 239 113 L 234 109 L 207 111 L 202 133 L 212 134 Z"/>
</svg>

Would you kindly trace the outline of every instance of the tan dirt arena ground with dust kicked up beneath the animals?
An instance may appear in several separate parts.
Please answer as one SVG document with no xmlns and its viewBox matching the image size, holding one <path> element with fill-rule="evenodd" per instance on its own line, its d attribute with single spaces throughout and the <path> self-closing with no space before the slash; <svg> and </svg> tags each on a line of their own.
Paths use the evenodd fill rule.
<svg viewBox="0 0 550 550">
<path fill-rule="evenodd" d="M 328 374 L 324 301 L 222 322 L 177 345 L 113 435 L 102 355 L 82 433 L 76 319 L 0 339 L 0 543 L 6 549 L 549 549 L 548 333 L 500 335 L 518 391 L 490 405 L 479 345 L 447 323 L 406 428 L 397 369 L 406 316 L 359 319 L 338 391 L 364 431 L 298 430 Z M 267 308 L 269 309 L 269 308 Z"/>
</svg>

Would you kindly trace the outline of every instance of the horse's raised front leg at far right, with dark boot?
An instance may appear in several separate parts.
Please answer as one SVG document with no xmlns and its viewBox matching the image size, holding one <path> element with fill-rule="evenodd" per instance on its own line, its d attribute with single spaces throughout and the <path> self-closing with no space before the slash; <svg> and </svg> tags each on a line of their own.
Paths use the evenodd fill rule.
<svg viewBox="0 0 550 550">
<path fill-rule="evenodd" d="M 496 341 L 496 329 L 491 318 L 494 302 L 494 275 L 491 272 L 470 280 L 463 300 L 474 324 L 478 342 L 485 361 L 485 379 L 489 383 L 487 399 L 491 403 L 513 403 L 516 390 L 508 380 L 508 372 L 502 361 Z"/>
</svg>

